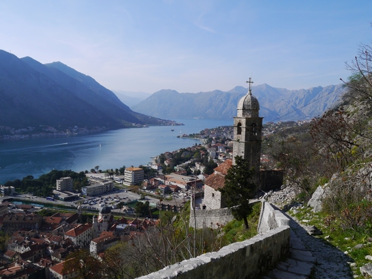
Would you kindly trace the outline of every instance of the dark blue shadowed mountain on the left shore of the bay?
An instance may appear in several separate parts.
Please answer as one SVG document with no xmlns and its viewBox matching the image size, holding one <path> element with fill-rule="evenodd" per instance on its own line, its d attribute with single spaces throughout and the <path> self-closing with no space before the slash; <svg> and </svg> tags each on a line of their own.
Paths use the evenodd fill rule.
<svg viewBox="0 0 372 279">
<path fill-rule="evenodd" d="M 44 65 L 1 50 L 0 98 L 0 136 L 169 124 L 133 112 L 112 91 L 61 62 Z"/>
</svg>

